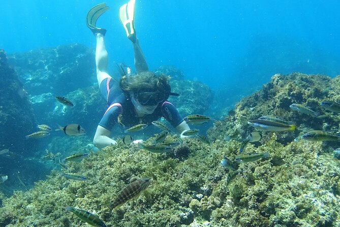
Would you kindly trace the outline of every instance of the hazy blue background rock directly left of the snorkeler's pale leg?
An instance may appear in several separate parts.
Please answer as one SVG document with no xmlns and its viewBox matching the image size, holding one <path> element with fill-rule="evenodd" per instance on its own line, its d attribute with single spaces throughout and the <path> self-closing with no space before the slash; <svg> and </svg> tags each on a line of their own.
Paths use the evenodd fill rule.
<svg viewBox="0 0 340 227">
<path fill-rule="evenodd" d="M 96 82 L 94 49 L 81 44 L 15 53 L 9 61 L 30 95 L 63 96 Z"/>
</svg>

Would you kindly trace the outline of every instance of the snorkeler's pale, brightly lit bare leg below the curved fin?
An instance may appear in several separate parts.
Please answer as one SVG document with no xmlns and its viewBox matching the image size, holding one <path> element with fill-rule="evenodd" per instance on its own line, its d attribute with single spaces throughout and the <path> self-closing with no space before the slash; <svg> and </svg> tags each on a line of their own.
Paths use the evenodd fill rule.
<svg viewBox="0 0 340 227">
<path fill-rule="evenodd" d="M 108 54 L 105 48 L 104 35 L 97 33 L 97 46 L 96 46 L 96 68 L 98 86 L 105 78 L 111 78 L 107 73 L 107 59 Z"/>
</svg>

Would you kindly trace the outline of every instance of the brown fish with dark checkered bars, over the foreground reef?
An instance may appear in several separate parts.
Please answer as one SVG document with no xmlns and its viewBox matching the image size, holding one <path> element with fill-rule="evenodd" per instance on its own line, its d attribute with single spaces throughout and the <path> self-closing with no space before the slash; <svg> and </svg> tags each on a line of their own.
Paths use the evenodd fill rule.
<svg viewBox="0 0 340 227">
<path fill-rule="evenodd" d="M 114 208 L 118 208 L 129 200 L 138 197 L 151 184 L 152 180 L 151 177 L 145 177 L 130 183 L 118 193 L 115 200 L 109 206 L 110 210 L 112 211 Z"/>
</svg>

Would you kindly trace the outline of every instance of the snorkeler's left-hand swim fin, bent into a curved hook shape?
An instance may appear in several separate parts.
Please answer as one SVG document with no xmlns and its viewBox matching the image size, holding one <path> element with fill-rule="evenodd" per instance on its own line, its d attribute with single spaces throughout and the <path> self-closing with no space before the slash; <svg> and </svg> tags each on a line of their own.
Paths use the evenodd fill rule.
<svg viewBox="0 0 340 227">
<path fill-rule="evenodd" d="M 110 7 L 106 6 L 106 3 L 100 3 L 94 7 L 92 7 L 87 15 L 86 15 L 86 25 L 91 30 L 91 32 L 96 35 L 97 33 L 101 33 L 105 35 L 106 29 L 101 29 L 100 27 L 96 27 L 96 23 L 98 18 L 108 11 Z"/>
</svg>

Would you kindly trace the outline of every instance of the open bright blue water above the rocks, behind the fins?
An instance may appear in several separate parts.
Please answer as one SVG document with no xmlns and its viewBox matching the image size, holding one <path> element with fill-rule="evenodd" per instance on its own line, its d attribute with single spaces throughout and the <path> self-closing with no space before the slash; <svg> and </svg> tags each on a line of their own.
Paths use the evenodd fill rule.
<svg viewBox="0 0 340 227">
<path fill-rule="evenodd" d="M 95 47 L 85 15 L 98 3 L 2 1 L 0 48 L 14 53 L 70 43 Z M 125 1 L 106 3 L 111 9 L 98 26 L 108 30 L 111 67 L 113 61 L 133 65 L 117 16 Z M 339 9 L 338 1 L 137 1 L 136 30 L 151 70 L 175 65 L 188 79 L 228 88 L 247 80 L 263 83 L 274 73 L 337 75 Z"/>
</svg>

